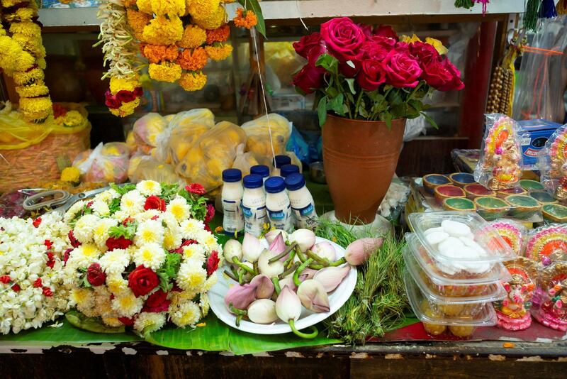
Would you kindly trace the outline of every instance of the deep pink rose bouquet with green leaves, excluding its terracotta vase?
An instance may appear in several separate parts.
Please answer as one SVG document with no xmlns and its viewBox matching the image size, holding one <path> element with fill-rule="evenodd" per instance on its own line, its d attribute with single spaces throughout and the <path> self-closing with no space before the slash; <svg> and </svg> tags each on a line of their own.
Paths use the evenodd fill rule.
<svg viewBox="0 0 567 379">
<path fill-rule="evenodd" d="M 320 33 L 293 44 L 307 60 L 293 77 L 301 94 L 316 93 L 320 125 L 327 111 L 349 119 L 415 119 L 427 105 L 422 99 L 434 90 L 464 88 L 461 73 L 444 56 L 439 40 L 422 42 L 413 35 L 400 38 L 391 26 L 354 23 L 333 18 Z"/>
</svg>

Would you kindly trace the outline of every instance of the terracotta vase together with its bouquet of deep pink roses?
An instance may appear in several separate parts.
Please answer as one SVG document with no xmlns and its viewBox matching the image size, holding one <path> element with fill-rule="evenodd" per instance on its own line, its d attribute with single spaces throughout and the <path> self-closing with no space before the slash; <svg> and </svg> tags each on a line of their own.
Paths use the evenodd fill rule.
<svg viewBox="0 0 567 379">
<path fill-rule="evenodd" d="M 435 90 L 462 89 L 461 73 L 439 40 L 400 38 L 390 26 L 373 29 L 347 17 L 323 23 L 320 33 L 304 36 L 294 48 L 307 63 L 293 84 L 303 94 L 315 92 L 324 126 L 335 215 L 368 224 L 390 185 L 405 119 L 423 115 L 433 122 L 422 99 Z"/>
</svg>

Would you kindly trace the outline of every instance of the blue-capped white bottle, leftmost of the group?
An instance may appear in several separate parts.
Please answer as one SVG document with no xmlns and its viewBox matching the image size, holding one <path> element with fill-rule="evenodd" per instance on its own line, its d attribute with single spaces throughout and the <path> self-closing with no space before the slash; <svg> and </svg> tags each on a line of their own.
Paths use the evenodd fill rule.
<svg viewBox="0 0 567 379">
<path fill-rule="evenodd" d="M 242 214 L 242 172 L 237 168 L 223 171 L 223 229 L 228 236 L 240 234 L 244 230 L 244 214 Z"/>
</svg>

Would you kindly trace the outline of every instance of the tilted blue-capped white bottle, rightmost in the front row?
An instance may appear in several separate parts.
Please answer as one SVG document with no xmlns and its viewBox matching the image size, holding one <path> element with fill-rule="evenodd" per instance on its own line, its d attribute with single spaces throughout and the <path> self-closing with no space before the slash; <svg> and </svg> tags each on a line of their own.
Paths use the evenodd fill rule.
<svg viewBox="0 0 567 379">
<path fill-rule="evenodd" d="M 296 229 L 314 229 L 317 226 L 315 202 L 313 202 L 311 192 L 305 187 L 303 175 L 298 173 L 288 175 L 286 188 Z"/>
</svg>

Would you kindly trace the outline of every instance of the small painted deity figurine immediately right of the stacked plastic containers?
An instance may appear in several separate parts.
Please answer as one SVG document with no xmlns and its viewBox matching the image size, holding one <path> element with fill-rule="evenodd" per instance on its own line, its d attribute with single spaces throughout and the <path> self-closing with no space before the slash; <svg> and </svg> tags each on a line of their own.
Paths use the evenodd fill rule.
<svg viewBox="0 0 567 379">
<path fill-rule="evenodd" d="M 524 330 L 532 325 L 532 297 L 537 284 L 537 265 L 525 257 L 505 262 L 511 280 L 504 282 L 507 297 L 494 302 L 497 326 L 507 330 Z"/>
</svg>

